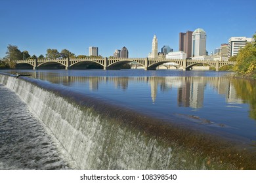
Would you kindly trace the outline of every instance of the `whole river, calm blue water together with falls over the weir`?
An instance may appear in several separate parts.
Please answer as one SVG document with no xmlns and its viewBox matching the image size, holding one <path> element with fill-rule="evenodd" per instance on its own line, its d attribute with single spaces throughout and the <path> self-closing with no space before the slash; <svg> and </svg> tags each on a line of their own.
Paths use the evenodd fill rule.
<svg viewBox="0 0 256 183">
<path fill-rule="evenodd" d="M 93 108 L 93 111 L 90 109 L 86 114 L 79 112 L 81 108 L 76 109 L 77 114 L 68 113 L 75 116 L 76 121 L 72 122 L 75 132 L 70 133 L 79 131 L 82 134 L 79 138 L 86 139 L 81 141 L 90 143 L 85 145 L 86 148 L 81 147 L 82 144 L 77 144 L 75 147 L 79 146 L 81 151 L 78 154 L 72 152 L 70 145 L 62 142 L 67 137 L 57 134 L 53 122 L 45 122 L 52 114 L 40 116 L 46 114 L 35 111 L 74 161 L 81 161 L 78 163 L 80 169 L 255 169 L 253 163 L 248 163 L 256 161 L 251 159 L 255 158 L 256 150 L 255 81 L 233 78 L 230 76 L 232 73 L 215 71 L 123 69 L 8 72 L 30 74 L 32 76 L 16 80 L 28 78 L 29 80 L 25 79 L 26 82 L 36 85 L 39 82 L 39 87 L 45 87 L 46 90 L 51 90 L 64 99 L 70 98 L 79 105 L 85 105 L 86 110 Z M 83 97 L 89 97 L 86 100 L 90 102 L 85 102 Z M 56 104 L 54 100 L 52 102 L 55 102 L 56 108 L 52 107 L 51 110 L 54 110 L 54 115 L 58 113 L 55 122 L 62 121 L 64 117 L 60 116 L 64 115 L 63 111 L 56 112 L 58 107 L 63 108 L 62 103 Z M 86 130 L 83 128 L 93 125 L 81 125 L 84 120 L 81 120 L 81 116 L 86 115 L 94 116 L 86 121 L 96 120 L 95 123 L 98 125 L 93 131 L 85 133 Z M 80 116 L 79 119 L 77 116 Z M 65 117 L 65 121 L 68 121 L 66 118 L 68 117 Z M 103 119 L 108 119 L 107 126 L 102 124 Z M 131 130 L 133 127 L 135 129 Z M 68 127 L 65 127 L 66 129 Z M 62 128 L 62 133 L 66 133 L 63 130 Z M 102 137 L 95 135 L 96 131 Z M 116 133 L 116 137 L 109 134 L 111 131 Z M 146 135 L 143 135 L 144 133 Z M 123 138 L 137 143 L 139 147 L 131 148 L 133 145 Z M 106 142 L 113 143 L 113 147 L 110 148 Z M 141 151 L 141 148 L 145 150 Z M 87 155 L 81 155 L 82 152 Z M 192 154 L 196 154 L 197 158 Z M 200 158 L 200 154 L 203 154 L 203 158 Z M 243 154 L 243 160 L 234 154 Z M 118 159 L 119 156 L 122 158 Z M 144 156 L 148 163 L 142 163 L 141 156 Z M 159 158 L 165 159 L 161 159 L 161 163 L 156 163 L 155 161 L 160 161 Z M 95 161 L 100 163 L 95 164 Z"/>
</svg>

